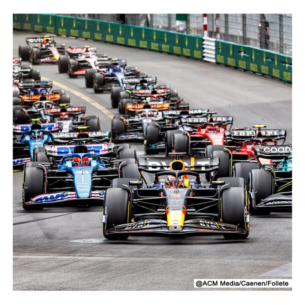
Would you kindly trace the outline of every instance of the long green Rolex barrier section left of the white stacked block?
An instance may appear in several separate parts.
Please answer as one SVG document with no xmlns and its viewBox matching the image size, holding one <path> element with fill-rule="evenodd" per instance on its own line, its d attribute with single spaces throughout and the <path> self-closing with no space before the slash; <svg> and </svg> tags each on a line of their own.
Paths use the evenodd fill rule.
<svg viewBox="0 0 305 305">
<path fill-rule="evenodd" d="M 202 59 L 202 37 L 54 14 L 13 14 L 13 28 L 59 34 Z"/>
</svg>

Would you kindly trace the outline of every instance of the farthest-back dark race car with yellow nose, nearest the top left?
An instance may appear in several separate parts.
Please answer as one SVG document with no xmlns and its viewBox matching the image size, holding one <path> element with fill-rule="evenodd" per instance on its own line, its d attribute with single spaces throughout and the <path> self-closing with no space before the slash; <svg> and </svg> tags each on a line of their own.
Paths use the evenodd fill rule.
<svg viewBox="0 0 305 305">
<path fill-rule="evenodd" d="M 38 63 L 57 63 L 59 56 L 66 53 L 65 44 L 56 47 L 54 37 L 45 35 L 43 37 L 26 38 L 27 45 L 19 46 L 19 57 L 29 60 L 33 65 Z M 30 44 L 39 43 L 31 47 Z"/>
</svg>

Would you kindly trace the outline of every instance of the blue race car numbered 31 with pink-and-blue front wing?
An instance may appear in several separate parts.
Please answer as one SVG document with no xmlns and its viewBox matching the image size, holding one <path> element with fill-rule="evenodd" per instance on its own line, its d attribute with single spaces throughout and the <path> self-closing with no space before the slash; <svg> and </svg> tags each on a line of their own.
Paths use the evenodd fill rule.
<svg viewBox="0 0 305 305">
<path fill-rule="evenodd" d="M 85 145 L 53 163 L 28 162 L 23 172 L 22 206 L 24 210 L 42 210 L 48 204 L 100 205 L 105 189 L 113 178 L 130 178 L 138 173 L 135 159 L 107 161 L 88 152 Z"/>
</svg>

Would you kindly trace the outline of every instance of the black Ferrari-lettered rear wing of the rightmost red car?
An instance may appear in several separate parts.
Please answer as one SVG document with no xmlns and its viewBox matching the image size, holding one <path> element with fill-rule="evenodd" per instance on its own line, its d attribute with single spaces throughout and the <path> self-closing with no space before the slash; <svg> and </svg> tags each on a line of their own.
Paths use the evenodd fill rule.
<svg viewBox="0 0 305 305">
<path fill-rule="evenodd" d="M 285 129 L 263 129 L 263 130 L 256 130 L 256 129 L 243 129 L 239 130 L 235 128 L 235 130 L 225 131 L 224 136 L 228 141 L 237 141 L 243 142 L 246 140 L 251 140 L 254 138 L 263 137 L 263 138 L 271 138 L 274 140 L 280 140 L 286 138 L 286 130 Z"/>
</svg>

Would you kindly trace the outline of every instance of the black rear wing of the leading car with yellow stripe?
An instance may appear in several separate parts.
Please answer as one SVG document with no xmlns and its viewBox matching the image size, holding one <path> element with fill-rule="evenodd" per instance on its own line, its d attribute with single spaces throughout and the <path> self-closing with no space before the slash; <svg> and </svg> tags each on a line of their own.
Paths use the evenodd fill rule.
<svg viewBox="0 0 305 305">
<path fill-rule="evenodd" d="M 170 170 L 170 164 L 176 160 L 174 157 L 138 157 L 138 169 L 148 173 L 158 173 Z M 219 170 L 218 157 L 181 157 L 186 171 L 210 173 Z"/>
</svg>

